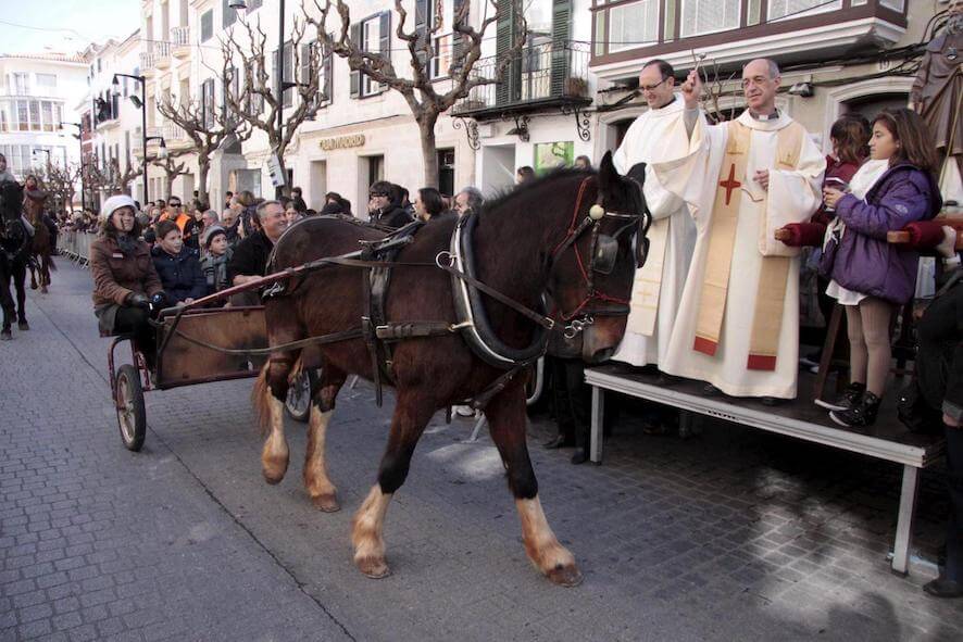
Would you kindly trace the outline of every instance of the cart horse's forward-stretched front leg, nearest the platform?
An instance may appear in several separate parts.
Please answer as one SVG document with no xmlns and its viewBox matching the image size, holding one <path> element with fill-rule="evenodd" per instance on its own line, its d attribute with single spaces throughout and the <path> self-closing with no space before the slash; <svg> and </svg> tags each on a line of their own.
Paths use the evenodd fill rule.
<svg viewBox="0 0 963 642">
<path fill-rule="evenodd" d="M 538 481 L 528 457 L 525 440 L 525 387 L 521 381 L 493 398 L 485 410 L 491 440 L 498 446 L 508 470 L 509 488 L 522 521 L 522 540 L 531 564 L 551 581 L 563 587 L 581 582 L 575 557 L 552 532 L 541 502 Z"/>
</svg>

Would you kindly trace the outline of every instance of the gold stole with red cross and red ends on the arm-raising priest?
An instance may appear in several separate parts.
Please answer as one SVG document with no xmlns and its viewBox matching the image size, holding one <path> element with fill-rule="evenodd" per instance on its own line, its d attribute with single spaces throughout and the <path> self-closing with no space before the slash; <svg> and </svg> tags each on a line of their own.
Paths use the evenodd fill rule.
<svg viewBox="0 0 963 642">
<path fill-rule="evenodd" d="M 799 123 L 779 129 L 776 143 L 776 168 L 795 169 L 799 163 L 802 137 L 805 129 Z M 733 248 L 739 206 L 742 203 L 742 184 L 752 130 L 738 121 L 728 124 L 728 141 L 723 158 L 722 176 L 715 191 L 712 219 L 709 229 L 709 252 L 705 276 L 699 300 L 699 317 L 696 322 L 696 340 L 692 349 L 710 356 L 718 349 L 722 323 L 729 288 Z M 766 213 L 759 222 L 766 229 Z M 789 278 L 788 256 L 764 256 L 759 289 L 755 295 L 755 313 L 746 367 L 754 370 L 775 370 L 779 330 L 783 327 L 783 304 L 786 300 L 786 281 Z"/>
</svg>

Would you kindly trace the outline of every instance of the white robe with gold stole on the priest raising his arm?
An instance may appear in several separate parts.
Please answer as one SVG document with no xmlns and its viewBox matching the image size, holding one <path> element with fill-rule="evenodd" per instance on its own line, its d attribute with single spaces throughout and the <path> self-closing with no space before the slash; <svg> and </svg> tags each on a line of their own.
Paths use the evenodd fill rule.
<svg viewBox="0 0 963 642">
<path fill-rule="evenodd" d="M 799 358 L 799 250 L 773 237 L 809 221 L 826 167 L 789 116 L 709 126 L 700 117 L 679 161 L 658 163 L 697 239 L 660 368 L 734 396 L 793 399 Z M 768 169 L 768 190 L 755 172 Z"/>
</svg>

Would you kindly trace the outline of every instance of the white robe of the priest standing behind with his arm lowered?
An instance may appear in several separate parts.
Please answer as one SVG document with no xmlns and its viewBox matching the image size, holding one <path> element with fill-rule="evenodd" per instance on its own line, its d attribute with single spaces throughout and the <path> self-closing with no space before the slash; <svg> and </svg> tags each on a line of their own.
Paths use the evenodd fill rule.
<svg viewBox="0 0 963 642">
<path fill-rule="evenodd" d="M 659 364 L 668 350 L 668 336 L 683 295 L 683 285 L 696 244 L 696 226 L 685 202 L 662 187 L 652 163 L 677 161 L 689 153 L 680 96 L 662 109 L 640 115 L 625 133 L 612 156 L 621 174 L 648 163 L 642 190 L 652 214 L 649 254 L 636 270 L 625 337 L 612 358 L 636 366 Z"/>
</svg>

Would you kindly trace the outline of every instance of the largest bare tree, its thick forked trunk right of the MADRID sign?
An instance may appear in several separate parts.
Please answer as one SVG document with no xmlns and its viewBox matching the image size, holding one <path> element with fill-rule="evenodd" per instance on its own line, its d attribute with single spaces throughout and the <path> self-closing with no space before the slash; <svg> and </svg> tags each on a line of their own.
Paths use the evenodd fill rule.
<svg viewBox="0 0 963 642">
<path fill-rule="evenodd" d="M 424 185 L 438 187 L 438 152 L 435 143 L 435 125 L 438 116 L 448 111 L 454 103 L 468 96 L 475 87 L 481 85 L 496 85 L 501 81 L 505 70 L 517 60 L 522 47 L 525 45 L 527 25 L 525 23 L 521 0 L 487 0 L 488 12 L 478 21 L 478 28 L 472 27 L 468 21 L 468 2 L 464 2 L 452 21 L 452 33 L 458 35 L 460 45 L 454 48 L 451 55 L 451 65 L 448 70 L 449 79 L 443 84 L 436 84 L 429 73 L 429 65 L 436 55 L 435 36 L 440 32 L 442 24 L 440 16 L 436 16 L 430 25 L 426 25 L 420 33 L 416 25 L 409 30 L 408 12 L 402 7 L 401 0 L 395 0 L 395 13 L 398 16 L 395 36 L 408 47 L 405 62 L 411 65 L 411 77 L 398 74 L 391 61 L 391 52 L 365 51 L 363 42 L 358 41 L 358 35 L 352 36 L 351 12 L 342 0 L 313 0 L 318 16 L 304 13 L 304 20 L 313 25 L 317 32 L 317 41 L 324 42 L 333 53 L 346 59 L 351 71 L 360 72 L 376 83 L 386 85 L 399 92 L 408 103 L 415 122 L 418 125 L 422 143 L 422 163 L 424 165 Z M 337 10 L 338 22 L 335 32 L 327 24 L 332 8 Z M 303 9 L 303 4 L 302 4 Z M 481 58 L 481 41 L 491 25 L 497 25 L 503 18 L 504 11 L 515 13 L 515 33 L 512 35 L 511 47 L 500 52 L 499 60 L 491 77 L 483 77 L 474 74 L 475 63 Z M 443 88 L 443 89 L 442 89 Z"/>
</svg>

